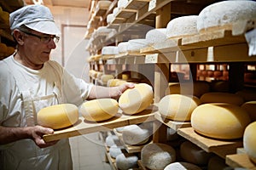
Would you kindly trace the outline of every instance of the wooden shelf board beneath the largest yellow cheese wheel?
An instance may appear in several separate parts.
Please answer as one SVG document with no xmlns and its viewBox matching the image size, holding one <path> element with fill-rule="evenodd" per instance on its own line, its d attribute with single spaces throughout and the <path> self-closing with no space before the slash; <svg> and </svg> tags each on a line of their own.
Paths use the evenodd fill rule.
<svg viewBox="0 0 256 170">
<path fill-rule="evenodd" d="M 213 152 L 222 158 L 225 158 L 227 155 L 235 154 L 236 149 L 242 146 L 242 140 L 218 140 L 210 139 L 195 133 L 193 127 L 184 127 L 179 128 L 177 133 L 183 138 L 188 139 L 192 143 L 201 147 L 201 149 L 206 150 L 207 152 Z"/>
</svg>

